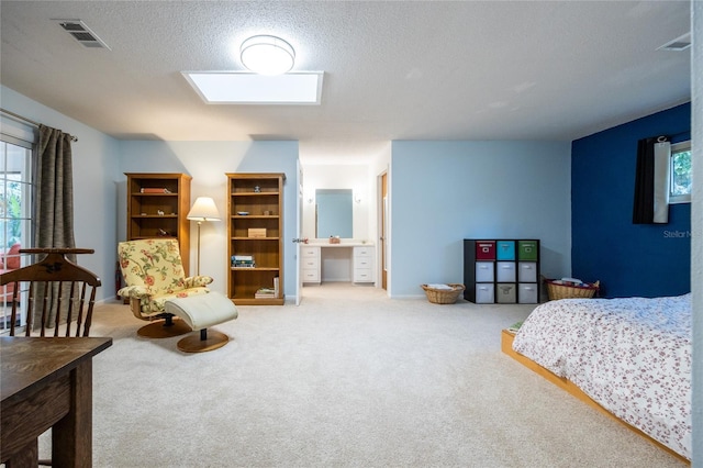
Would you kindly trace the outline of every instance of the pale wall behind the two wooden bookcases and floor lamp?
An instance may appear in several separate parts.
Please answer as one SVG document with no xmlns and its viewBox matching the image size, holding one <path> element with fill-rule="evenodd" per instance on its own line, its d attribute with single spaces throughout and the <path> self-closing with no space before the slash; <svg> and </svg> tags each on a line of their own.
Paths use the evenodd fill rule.
<svg viewBox="0 0 703 468">
<path fill-rule="evenodd" d="M 298 142 L 150 142 L 120 144 L 120 172 L 185 172 L 192 177 L 191 204 L 212 197 L 222 222 L 201 225 L 200 272 L 215 280 L 210 288 L 227 292 L 227 172 L 283 172 L 283 293 L 295 294 L 295 233 L 298 210 Z M 126 177 L 120 174 L 119 239 L 126 238 Z M 191 224 L 190 265 L 196 265 L 197 224 Z"/>
</svg>

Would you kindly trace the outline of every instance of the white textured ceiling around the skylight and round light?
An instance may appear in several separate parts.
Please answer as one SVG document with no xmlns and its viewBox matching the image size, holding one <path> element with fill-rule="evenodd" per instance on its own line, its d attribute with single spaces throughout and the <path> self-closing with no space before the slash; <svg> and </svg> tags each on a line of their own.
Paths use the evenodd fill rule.
<svg viewBox="0 0 703 468">
<path fill-rule="evenodd" d="M 299 140 L 303 164 L 391 140 L 574 140 L 690 100 L 688 1 L 5 1 L 0 81 L 116 138 Z M 80 19 L 111 48 L 52 19 Z M 321 105 L 209 105 L 183 70 L 243 70 L 275 34 Z"/>
</svg>

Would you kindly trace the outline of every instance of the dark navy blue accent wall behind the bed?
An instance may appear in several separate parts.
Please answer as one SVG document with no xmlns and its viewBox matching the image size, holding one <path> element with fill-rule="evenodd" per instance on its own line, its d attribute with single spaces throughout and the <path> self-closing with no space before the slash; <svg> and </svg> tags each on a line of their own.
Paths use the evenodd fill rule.
<svg viewBox="0 0 703 468">
<path fill-rule="evenodd" d="M 571 146 L 572 276 L 600 280 L 602 294 L 678 296 L 691 291 L 691 204 L 669 207 L 668 224 L 633 224 L 637 141 L 691 138 L 681 104 L 577 140 Z"/>
</svg>

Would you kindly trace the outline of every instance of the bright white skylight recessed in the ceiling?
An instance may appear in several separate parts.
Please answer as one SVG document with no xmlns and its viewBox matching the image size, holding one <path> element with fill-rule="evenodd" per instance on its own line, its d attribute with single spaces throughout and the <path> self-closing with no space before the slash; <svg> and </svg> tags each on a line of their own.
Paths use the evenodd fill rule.
<svg viewBox="0 0 703 468">
<path fill-rule="evenodd" d="M 183 71 L 209 104 L 320 104 L 323 71 L 265 76 L 238 71 Z"/>
</svg>

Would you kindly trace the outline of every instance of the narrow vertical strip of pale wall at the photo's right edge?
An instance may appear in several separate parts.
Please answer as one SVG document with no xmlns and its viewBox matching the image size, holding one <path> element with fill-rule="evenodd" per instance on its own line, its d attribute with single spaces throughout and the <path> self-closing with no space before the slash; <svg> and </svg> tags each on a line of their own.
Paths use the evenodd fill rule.
<svg viewBox="0 0 703 468">
<path fill-rule="evenodd" d="M 703 2 L 692 1 L 691 35 L 693 197 L 691 203 L 691 291 L 693 297 L 693 463 L 703 468 Z"/>
</svg>

